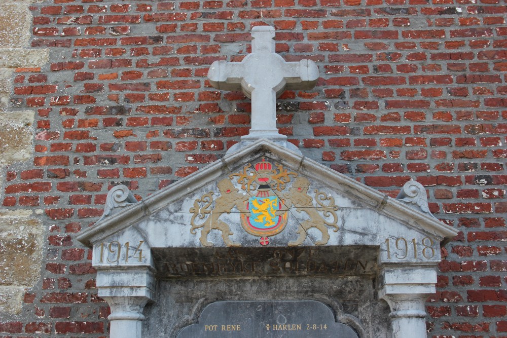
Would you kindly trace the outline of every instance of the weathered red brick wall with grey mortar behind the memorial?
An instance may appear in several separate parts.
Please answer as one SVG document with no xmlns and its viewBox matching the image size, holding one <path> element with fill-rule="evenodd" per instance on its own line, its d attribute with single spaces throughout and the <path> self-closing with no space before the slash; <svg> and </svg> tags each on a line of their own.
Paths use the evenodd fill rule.
<svg viewBox="0 0 507 338">
<path fill-rule="evenodd" d="M 2 169 L 4 210 L 45 224 L 42 278 L 0 336 L 107 335 L 91 253 L 74 236 L 123 183 L 145 197 L 224 156 L 250 103 L 206 81 L 273 25 L 287 61 L 317 62 L 278 101 L 305 156 L 390 196 L 413 178 L 460 235 L 443 249 L 428 336 L 507 337 L 507 6 L 501 0 L 35 2 L 31 46 L 50 62 L 11 76 L 35 110 L 32 159 Z M 0 248 L 1 252 L 1 248 Z"/>
</svg>

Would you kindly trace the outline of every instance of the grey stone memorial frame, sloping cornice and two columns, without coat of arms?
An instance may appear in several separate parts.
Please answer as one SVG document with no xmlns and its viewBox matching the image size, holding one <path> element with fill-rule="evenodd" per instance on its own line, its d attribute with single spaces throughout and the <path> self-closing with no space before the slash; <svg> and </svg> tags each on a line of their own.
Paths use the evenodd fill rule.
<svg viewBox="0 0 507 338">
<path fill-rule="evenodd" d="M 155 300 L 157 258 L 152 255 L 152 248 L 161 247 L 160 243 L 164 240 L 169 241 L 165 244 L 168 248 L 203 247 L 197 239 L 198 236 L 190 233 L 188 226 L 180 229 L 182 226 L 178 224 L 185 222 L 173 224 L 176 228 L 173 227 L 172 230 L 154 226 L 155 223 L 152 221 L 157 217 L 157 212 L 168 215 L 177 211 L 178 207 L 187 207 L 191 204 L 190 202 L 199 198 L 204 190 L 209 189 L 210 186 L 216 186 L 216 182 L 221 178 L 236 172 L 241 166 L 262 161 L 262 158 L 265 161 L 282 164 L 301 176 L 310 177 L 311 184 L 320 185 L 322 189 L 334 192 L 335 200 L 346 196 L 353 203 L 361 204 L 363 209 L 359 214 L 360 217 L 373 215 L 372 217 L 378 219 L 374 224 L 377 228 L 376 230 L 372 228 L 370 236 L 354 235 L 350 232 L 341 236 L 340 239 L 332 237 L 325 245 L 378 246 L 380 250 L 376 271 L 378 298 L 384 299 L 391 308 L 393 337 L 402 338 L 409 335 L 414 338 L 425 337 L 424 303 L 427 296 L 435 291 L 437 265 L 441 259 L 440 244 L 456 236 L 457 231 L 441 223 L 429 213 L 422 186 L 410 181 L 402 189 L 399 199 L 393 199 L 264 139 L 208 165 L 140 202 L 128 202 L 132 201 L 128 197 L 130 193 L 128 190 L 122 190 L 121 187 L 108 195 L 107 205 L 112 206 L 110 210 L 106 210 L 108 216 L 81 233 L 78 239 L 93 247 L 92 261 L 94 268 L 97 269 L 98 295 L 110 304 L 112 310 L 109 317 L 111 337 L 141 337 L 141 323 L 144 318 L 142 309 L 147 302 Z M 182 202 L 184 199 L 187 202 Z M 351 213 L 355 210 L 354 207 L 343 209 L 346 211 L 342 214 L 343 217 L 346 217 L 347 212 Z M 169 223 L 167 223 L 168 226 Z M 345 222 L 345 226 L 341 225 L 342 230 L 347 230 L 346 224 Z M 354 227 L 356 226 L 359 227 L 361 224 L 354 224 Z M 178 236 L 173 236 L 171 232 Z M 385 232 L 385 234 L 379 232 Z M 279 236 L 288 235 L 289 233 L 283 232 Z M 244 232 L 241 236 L 243 237 L 237 238 L 236 241 L 244 243 L 243 246 L 246 247 L 254 246 L 252 244 L 254 242 L 246 240 L 251 235 Z M 384 242 L 379 238 L 387 240 Z M 407 243 L 407 249 L 411 248 L 411 239 L 414 239 L 412 244 L 414 248 L 421 249 L 417 252 L 417 257 L 414 257 L 417 259 L 399 259 L 402 257 L 401 253 L 389 251 L 389 248 L 386 250 L 386 245 L 390 245 L 390 249 L 393 245 L 396 248 L 405 247 L 402 245 L 401 238 Z M 429 241 L 425 238 L 429 238 Z M 242 242 L 243 240 L 245 242 Z M 287 243 L 288 241 L 287 237 Z M 142 257 L 142 259 L 139 258 L 142 261 L 132 258 L 128 262 L 123 258 L 121 261 L 118 253 L 118 259 L 111 257 L 110 261 L 107 261 L 102 256 L 102 262 L 100 262 L 100 248 L 102 247 L 103 250 L 103 243 L 109 243 L 108 245 L 111 246 L 113 242 L 122 244 L 128 242 L 129 247 L 132 248 L 130 249 L 132 258 Z M 428 246 L 430 242 L 431 246 Z M 138 243 L 139 246 L 137 246 Z M 225 242 L 216 242 L 214 245 L 227 247 Z M 255 247 L 258 250 L 263 248 L 259 243 L 255 244 Z M 142 250 L 142 253 L 139 254 L 138 250 Z M 429 252 L 432 253 L 430 258 L 421 259 L 421 255 L 429 257 Z M 410 332 L 409 335 L 407 335 L 408 332 Z"/>
</svg>

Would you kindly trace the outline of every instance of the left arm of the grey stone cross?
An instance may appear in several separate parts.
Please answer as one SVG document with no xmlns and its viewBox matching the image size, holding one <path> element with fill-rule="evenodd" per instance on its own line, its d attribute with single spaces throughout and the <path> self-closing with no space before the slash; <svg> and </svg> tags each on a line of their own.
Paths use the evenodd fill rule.
<svg viewBox="0 0 507 338">
<path fill-rule="evenodd" d="M 214 61 L 208 71 L 209 83 L 216 89 L 241 90 L 242 66 L 241 62 Z"/>
</svg>

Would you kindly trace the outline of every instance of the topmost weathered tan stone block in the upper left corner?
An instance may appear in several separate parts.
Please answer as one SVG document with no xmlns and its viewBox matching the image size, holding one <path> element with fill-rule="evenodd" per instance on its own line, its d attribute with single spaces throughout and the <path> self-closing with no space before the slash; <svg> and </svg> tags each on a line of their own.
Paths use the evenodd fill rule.
<svg viewBox="0 0 507 338">
<path fill-rule="evenodd" d="M 31 17 L 26 4 L 0 4 L 0 47 L 27 46 Z"/>
</svg>

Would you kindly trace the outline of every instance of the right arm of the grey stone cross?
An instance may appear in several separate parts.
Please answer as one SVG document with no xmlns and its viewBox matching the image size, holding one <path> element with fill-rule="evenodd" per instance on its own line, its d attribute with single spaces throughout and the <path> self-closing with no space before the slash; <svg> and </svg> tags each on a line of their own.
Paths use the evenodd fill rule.
<svg viewBox="0 0 507 338">
<path fill-rule="evenodd" d="M 307 90 L 312 89 L 317 84 L 318 67 L 312 60 L 301 60 L 299 62 L 285 62 L 283 64 L 285 74 L 285 89 L 288 90 Z"/>
</svg>

